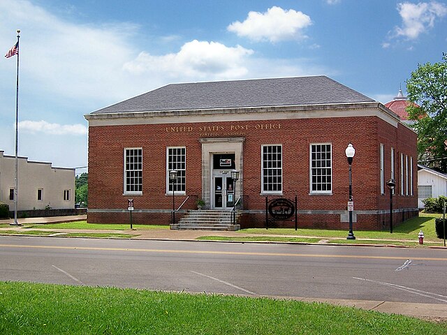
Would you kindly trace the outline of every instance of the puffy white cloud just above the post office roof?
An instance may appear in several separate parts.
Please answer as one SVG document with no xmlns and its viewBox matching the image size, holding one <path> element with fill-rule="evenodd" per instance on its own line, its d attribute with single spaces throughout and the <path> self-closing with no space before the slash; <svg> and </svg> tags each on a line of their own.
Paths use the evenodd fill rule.
<svg viewBox="0 0 447 335">
<path fill-rule="evenodd" d="M 170 77 L 220 77 L 237 78 L 247 74 L 244 66 L 253 50 L 240 45 L 227 47 L 217 42 L 192 40 L 179 52 L 154 56 L 141 52 L 138 57 L 124 64 L 131 73 L 164 73 Z"/>
</svg>

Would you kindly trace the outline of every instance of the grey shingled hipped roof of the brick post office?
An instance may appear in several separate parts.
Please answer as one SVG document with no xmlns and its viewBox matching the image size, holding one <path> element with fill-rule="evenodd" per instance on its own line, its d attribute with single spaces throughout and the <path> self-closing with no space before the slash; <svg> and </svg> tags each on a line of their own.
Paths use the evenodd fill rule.
<svg viewBox="0 0 447 335">
<path fill-rule="evenodd" d="M 373 102 L 326 76 L 169 84 L 91 114 Z"/>
</svg>

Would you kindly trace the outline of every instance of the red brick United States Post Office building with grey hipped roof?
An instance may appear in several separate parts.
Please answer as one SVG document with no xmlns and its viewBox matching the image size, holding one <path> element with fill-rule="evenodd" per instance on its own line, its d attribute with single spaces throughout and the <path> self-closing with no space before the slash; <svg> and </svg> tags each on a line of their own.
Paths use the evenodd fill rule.
<svg viewBox="0 0 447 335">
<path fill-rule="evenodd" d="M 241 226 L 263 227 L 266 198 L 296 196 L 298 227 L 345 229 L 349 142 L 354 230 L 388 228 L 390 178 L 395 225 L 418 215 L 416 133 L 325 76 L 170 84 L 85 117 L 91 223 L 129 223 L 132 198 L 134 223 L 168 224 L 174 188 L 177 219 L 242 197 Z"/>
</svg>

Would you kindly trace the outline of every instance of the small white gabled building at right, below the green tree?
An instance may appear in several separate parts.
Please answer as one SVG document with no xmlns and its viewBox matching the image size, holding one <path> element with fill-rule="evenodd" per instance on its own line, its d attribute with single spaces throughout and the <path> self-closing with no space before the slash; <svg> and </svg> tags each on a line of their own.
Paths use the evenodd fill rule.
<svg viewBox="0 0 447 335">
<path fill-rule="evenodd" d="M 447 196 L 447 174 L 418 164 L 418 207 L 424 208 L 422 200 Z"/>
</svg>

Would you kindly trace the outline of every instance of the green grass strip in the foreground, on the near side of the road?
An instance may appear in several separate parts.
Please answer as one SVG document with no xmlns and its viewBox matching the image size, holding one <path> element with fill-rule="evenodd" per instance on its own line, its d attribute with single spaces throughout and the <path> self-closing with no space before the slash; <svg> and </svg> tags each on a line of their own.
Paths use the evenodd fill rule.
<svg viewBox="0 0 447 335">
<path fill-rule="evenodd" d="M 0 334 L 446 334 L 402 315 L 293 300 L 0 282 Z"/>
</svg>

